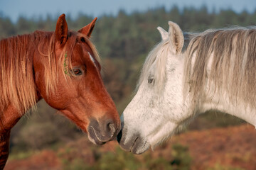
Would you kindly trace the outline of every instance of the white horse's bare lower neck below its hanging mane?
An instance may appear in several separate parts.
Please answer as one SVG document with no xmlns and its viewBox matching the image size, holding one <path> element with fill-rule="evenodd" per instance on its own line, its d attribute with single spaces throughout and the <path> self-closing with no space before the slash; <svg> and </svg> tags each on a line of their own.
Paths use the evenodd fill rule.
<svg viewBox="0 0 256 170">
<path fill-rule="evenodd" d="M 192 61 L 193 62 L 193 61 Z M 182 60 L 182 67 L 184 68 L 184 60 Z M 184 69 L 181 69 L 181 73 L 184 76 Z M 184 77 L 183 77 L 184 80 Z M 183 88 L 185 82 L 183 82 Z M 189 85 L 188 85 L 189 86 Z M 206 90 L 201 96 L 200 101 L 196 106 L 191 105 L 191 98 L 188 98 L 187 95 L 183 96 L 184 103 L 184 118 L 191 118 L 191 115 L 199 115 L 201 113 L 206 113 L 206 111 L 219 111 L 222 113 L 228 113 L 229 115 L 234 115 L 242 120 L 247 121 L 252 125 L 256 126 L 256 109 L 251 106 L 243 103 L 241 100 L 230 101 L 230 94 L 225 90 L 219 89 L 216 93 L 215 89 L 210 89 L 209 87 L 214 87 L 213 84 L 208 84 Z M 182 90 L 183 91 L 183 90 Z M 184 92 L 184 91 L 183 91 Z"/>
</svg>

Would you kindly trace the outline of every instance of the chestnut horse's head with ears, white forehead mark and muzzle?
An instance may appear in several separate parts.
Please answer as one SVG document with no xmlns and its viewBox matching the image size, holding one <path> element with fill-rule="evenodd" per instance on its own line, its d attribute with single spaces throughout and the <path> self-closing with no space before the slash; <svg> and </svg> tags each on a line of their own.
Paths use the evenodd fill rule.
<svg viewBox="0 0 256 170">
<path fill-rule="evenodd" d="M 41 44 L 35 52 L 33 67 L 38 95 L 87 132 L 92 142 L 102 145 L 117 135 L 120 120 L 89 39 L 96 19 L 75 32 L 68 30 L 65 15 L 61 15 L 48 50 Z"/>
</svg>

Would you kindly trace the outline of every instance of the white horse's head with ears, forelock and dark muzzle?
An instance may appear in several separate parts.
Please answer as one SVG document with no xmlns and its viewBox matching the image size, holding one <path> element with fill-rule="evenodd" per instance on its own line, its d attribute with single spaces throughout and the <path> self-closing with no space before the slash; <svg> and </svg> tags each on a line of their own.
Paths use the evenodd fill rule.
<svg viewBox="0 0 256 170">
<path fill-rule="evenodd" d="M 137 94 L 122 113 L 122 131 L 117 136 L 120 147 L 134 154 L 141 154 L 169 137 L 183 112 L 183 33 L 171 21 L 169 32 L 158 29 L 162 41 L 146 58 Z"/>
</svg>

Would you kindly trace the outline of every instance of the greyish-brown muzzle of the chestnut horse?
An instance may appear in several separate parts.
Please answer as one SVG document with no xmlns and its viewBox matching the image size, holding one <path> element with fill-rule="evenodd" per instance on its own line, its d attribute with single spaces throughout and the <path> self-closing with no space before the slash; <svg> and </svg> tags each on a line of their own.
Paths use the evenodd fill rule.
<svg viewBox="0 0 256 170">
<path fill-rule="evenodd" d="M 115 140 L 120 130 L 119 123 L 110 118 L 90 119 L 90 124 L 87 127 L 89 140 L 96 145 L 103 145 L 105 142 Z"/>
</svg>

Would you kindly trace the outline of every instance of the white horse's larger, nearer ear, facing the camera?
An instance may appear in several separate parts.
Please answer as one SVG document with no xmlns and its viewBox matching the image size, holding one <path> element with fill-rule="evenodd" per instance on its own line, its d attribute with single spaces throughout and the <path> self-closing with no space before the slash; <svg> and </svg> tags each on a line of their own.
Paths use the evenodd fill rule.
<svg viewBox="0 0 256 170">
<path fill-rule="evenodd" d="M 169 21 L 169 36 L 172 45 L 176 47 L 176 53 L 181 53 L 184 44 L 184 37 L 181 28 L 174 22 Z"/>
</svg>

